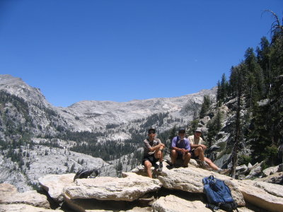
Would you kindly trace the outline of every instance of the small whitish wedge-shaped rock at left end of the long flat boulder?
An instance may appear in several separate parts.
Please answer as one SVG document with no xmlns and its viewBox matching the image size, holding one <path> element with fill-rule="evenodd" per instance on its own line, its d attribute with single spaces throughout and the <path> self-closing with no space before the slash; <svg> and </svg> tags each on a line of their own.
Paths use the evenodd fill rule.
<svg viewBox="0 0 283 212">
<path fill-rule="evenodd" d="M 40 177 L 38 181 L 40 185 L 45 189 L 54 201 L 63 201 L 63 189 L 74 185 L 75 174 L 64 175 L 45 175 Z"/>
</svg>

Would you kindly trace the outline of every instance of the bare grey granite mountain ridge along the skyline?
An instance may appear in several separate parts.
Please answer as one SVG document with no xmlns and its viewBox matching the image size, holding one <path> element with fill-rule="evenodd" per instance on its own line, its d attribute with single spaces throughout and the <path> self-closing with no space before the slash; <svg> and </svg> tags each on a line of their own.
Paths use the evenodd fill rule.
<svg viewBox="0 0 283 212">
<path fill-rule="evenodd" d="M 54 107 L 45 99 L 38 88 L 28 86 L 21 78 L 10 75 L 0 75 L 0 90 L 4 90 L 18 98 L 23 98 L 29 105 L 29 110 L 36 110 L 33 119 L 44 116 L 42 108 L 54 112 L 52 120 L 45 120 L 42 126 L 60 126 L 71 131 L 105 131 L 109 124 L 129 124 L 137 119 L 144 119 L 152 114 L 169 112 L 172 117 L 192 119 L 190 104 L 202 103 L 205 94 L 215 98 L 216 88 L 201 90 L 199 93 L 176 98 L 153 98 L 149 100 L 132 100 L 129 102 L 82 101 L 69 107 Z M 35 108 L 36 107 L 36 108 Z M 41 111 L 38 111 L 38 110 Z M 184 116 L 185 114 L 185 116 Z M 43 122 L 43 120 L 42 120 Z M 37 122 L 40 124 L 40 122 Z M 177 124 L 177 123 L 173 123 Z M 164 129 L 170 129 L 173 124 Z M 41 125 L 41 124 L 40 124 Z M 54 131 L 53 131 L 54 132 Z"/>
</svg>

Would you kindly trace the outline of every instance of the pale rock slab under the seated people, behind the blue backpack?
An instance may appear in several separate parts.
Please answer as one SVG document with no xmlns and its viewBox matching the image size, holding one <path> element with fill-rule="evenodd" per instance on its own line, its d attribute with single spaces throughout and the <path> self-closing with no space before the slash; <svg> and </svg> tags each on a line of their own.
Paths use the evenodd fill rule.
<svg viewBox="0 0 283 212">
<path fill-rule="evenodd" d="M 187 168 L 180 167 L 178 169 L 165 170 L 162 172 L 158 179 L 162 182 L 163 187 L 167 189 L 182 190 L 191 193 L 203 193 L 202 179 L 214 175 L 215 178 L 224 180 L 226 185 L 231 189 L 233 199 L 239 206 L 245 206 L 243 194 L 238 189 L 236 179 L 227 177 L 225 175 L 219 175 L 216 172 L 209 170 L 203 170 L 192 165 Z"/>
</svg>

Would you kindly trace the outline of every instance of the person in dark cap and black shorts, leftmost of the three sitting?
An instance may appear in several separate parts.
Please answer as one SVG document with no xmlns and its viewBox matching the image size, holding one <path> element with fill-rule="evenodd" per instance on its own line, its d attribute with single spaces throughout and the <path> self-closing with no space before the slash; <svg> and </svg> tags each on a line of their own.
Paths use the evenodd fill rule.
<svg viewBox="0 0 283 212">
<path fill-rule="evenodd" d="M 144 158 L 142 159 L 142 165 L 144 165 L 146 169 L 146 174 L 148 177 L 152 178 L 151 166 L 155 165 L 159 160 L 158 172 L 162 171 L 162 161 L 163 154 L 162 150 L 165 147 L 163 143 L 161 143 L 160 139 L 155 138 L 155 129 L 149 129 L 148 138 L 144 140 Z"/>
</svg>

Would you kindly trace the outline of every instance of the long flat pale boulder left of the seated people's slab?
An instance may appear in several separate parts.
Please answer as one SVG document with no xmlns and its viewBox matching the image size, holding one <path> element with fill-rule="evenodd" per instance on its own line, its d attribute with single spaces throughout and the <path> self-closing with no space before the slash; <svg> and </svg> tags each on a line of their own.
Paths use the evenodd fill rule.
<svg viewBox="0 0 283 212">
<path fill-rule="evenodd" d="M 75 186 L 64 189 L 64 196 L 68 199 L 134 201 L 148 192 L 157 191 L 162 186 L 158 179 L 132 172 L 125 173 L 125 176 L 127 177 L 76 179 Z"/>
</svg>

